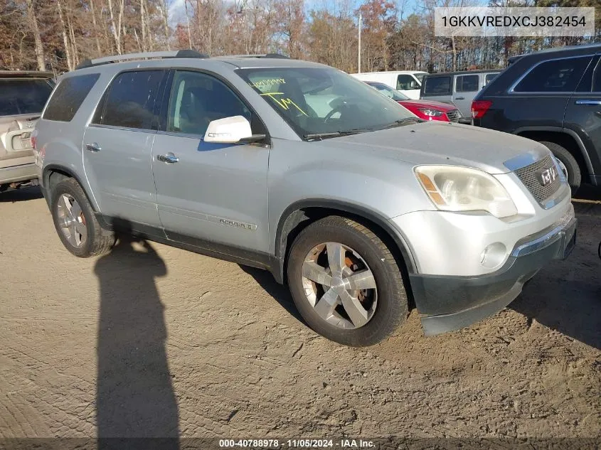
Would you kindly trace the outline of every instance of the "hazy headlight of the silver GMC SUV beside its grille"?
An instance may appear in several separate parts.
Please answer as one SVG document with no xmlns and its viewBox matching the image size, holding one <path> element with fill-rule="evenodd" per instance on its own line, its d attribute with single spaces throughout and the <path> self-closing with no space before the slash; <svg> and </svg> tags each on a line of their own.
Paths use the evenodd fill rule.
<svg viewBox="0 0 601 450">
<path fill-rule="evenodd" d="M 445 211 L 487 211 L 498 218 L 516 215 L 509 193 L 493 176 L 476 168 L 417 166 L 415 176 L 430 200 Z"/>
</svg>

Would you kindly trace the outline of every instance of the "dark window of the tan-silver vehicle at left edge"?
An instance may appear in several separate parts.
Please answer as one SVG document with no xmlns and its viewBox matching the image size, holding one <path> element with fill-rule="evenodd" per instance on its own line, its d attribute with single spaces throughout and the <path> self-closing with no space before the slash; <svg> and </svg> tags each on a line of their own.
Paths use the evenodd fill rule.
<svg viewBox="0 0 601 450">
<path fill-rule="evenodd" d="M 42 112 L 52 86 L 46 80 L 0 80 L 0 116 Z"/>
</svg>

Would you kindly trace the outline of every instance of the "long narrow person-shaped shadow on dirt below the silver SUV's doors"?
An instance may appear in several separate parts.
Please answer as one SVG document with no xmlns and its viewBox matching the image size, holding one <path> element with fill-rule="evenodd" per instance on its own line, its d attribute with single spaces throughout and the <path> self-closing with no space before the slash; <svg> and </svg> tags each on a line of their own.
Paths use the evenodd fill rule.
<svg viewBox="0 0 601 450">
<path fill-rule="evenodd" d="M 166 266 L 149 242 L 127 232 L 118 236 L 94 269 L 100 283 L 98 448 L 178 449 L 164 306 L 155 285 L 167 274 Z"/>
</svg>

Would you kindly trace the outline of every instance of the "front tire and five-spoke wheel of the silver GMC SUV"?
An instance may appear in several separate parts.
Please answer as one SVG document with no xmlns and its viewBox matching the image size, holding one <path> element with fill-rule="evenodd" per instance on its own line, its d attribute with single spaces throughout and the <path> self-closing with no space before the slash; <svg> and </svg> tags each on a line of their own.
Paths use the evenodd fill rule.
<svg viewBox="0 0 601 450">
<path fill-rule="evenodd" d="M 337 251 L 337 245 L 340 245 L 342 252 Z M 321 246 L 323 250 L 319 250 Z M 342 277 L 331 276 L 336 270 L 331 269 L 333 266 L 329 262 L 329 249 L 332 250 L 331 255 L 344 255 L 344 259 L 339 259 L 344 262 Z M 304 272 L 305 262 L 309 265 L 305 267 Z M 307 272 L 316 267 L 317 272 Z M 365 286 L 373 285 L 375 289 L 348 289 L 346 293 L 351 296 L 344 294 L 346 288 L 341 286 L 341 283 L 349 286 L 349 277 L 367 272 L 371 272 L 373 277 L 366 278 Z M 320 285 L 309 279 L 319 278 L 316 274 L 319 274 L 319 277 L 330 278 Z M 302 230 L 289 252 L 287 276 L 292 299 L 301 316 L 314 331 L 331 341 L 354 347 L 373 345 L 390 336 L 407 318 L 407 294 L 395 257 L 371 230 L 348 218 L 329 216 Z M 332 287 L 334 285 L 336 288 Z M 353 284 L 353 287 L 357 286 L 359 285 Z M 334 289 L 343 289 L 341 296 L 338 296 Z M 326 298 L 326 290 L 329 291 L 329 305 L 336 303 L 337 306 L 333 313 L 330 312 L 330 306 L 326 308 L 325 315 L 320 315 L 318 311 L 324 309 L 318 305 Z M 352 307 L 352 315 L 349 314 L 346 306 L 340 304 L 343 296 L 346 305 L 349 304 L 349 299 L 353 299 L 351 305 L 361 306 L 361 314 L 364 315 L 358 317 L 357 311 L 360 310 Z M 363 323 L 366 317 L 367 321 Z M 359 320 L 356 320 L 357 318 Z"/>
</svg>

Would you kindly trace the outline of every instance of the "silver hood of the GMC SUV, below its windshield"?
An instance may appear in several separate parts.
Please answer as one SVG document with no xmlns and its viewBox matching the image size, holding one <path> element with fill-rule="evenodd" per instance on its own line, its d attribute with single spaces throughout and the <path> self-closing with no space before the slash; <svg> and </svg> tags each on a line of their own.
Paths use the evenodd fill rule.
<svg viewBox="0 0 601 450">
<path fill-rule="evenodd" d="M 504 163 L 517 156 L 524 156 L 526 165 L 549 154 L 546 146 L 513 134 L 435 121 L 327 139 L 322 144 L 411 164 L 454 164 L 488 173 L 509 172 Z"/>
</svg>

